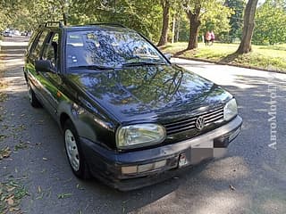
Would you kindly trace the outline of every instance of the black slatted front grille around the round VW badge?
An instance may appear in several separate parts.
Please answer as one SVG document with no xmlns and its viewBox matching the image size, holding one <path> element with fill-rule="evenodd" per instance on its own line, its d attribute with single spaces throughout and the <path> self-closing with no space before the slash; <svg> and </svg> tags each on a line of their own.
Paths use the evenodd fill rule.
<svg viewBox="0 0 286 214">
<path fill-rule="evenodd" d="M 181 119 L 174 121 L 172 123 L 164 124 L 166 128 L 167 136 L 176 134 L 183 131 L 190 131 L 196 128 L 196 120 L 199 116 L 202 116 L 205 119 L 206 128 L 209 127 L 213 123 L 222 122 L 223 121 L 223 106 L 220 108 L 216 108 L 211 111 L 207 111 L 202 114 L 198 114 L 188 119 Z"/>
</svg>

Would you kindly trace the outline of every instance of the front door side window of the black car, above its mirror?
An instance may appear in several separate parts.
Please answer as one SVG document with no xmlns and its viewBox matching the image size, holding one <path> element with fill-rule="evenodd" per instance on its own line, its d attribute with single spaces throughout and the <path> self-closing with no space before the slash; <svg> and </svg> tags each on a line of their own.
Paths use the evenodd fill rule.
<svg viewBox="0 0 286 214">
<path fill-rule="evenodd" d="M 46 44 L 44 46 L 42 59 L 49 60 L 56 67 L 57 62 L 57 52 L 58 52 L 58 44 L 59 44 L 59 34 L 56 32 L 52 32 L 49 35 L 49 39 L 46 40 Z"/>
</svg>

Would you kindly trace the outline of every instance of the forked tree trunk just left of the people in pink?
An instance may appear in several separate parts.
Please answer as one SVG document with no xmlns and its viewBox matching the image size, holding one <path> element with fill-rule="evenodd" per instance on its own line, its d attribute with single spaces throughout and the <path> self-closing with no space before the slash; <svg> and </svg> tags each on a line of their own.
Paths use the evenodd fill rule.
<svg viewBox="0 0 286 214">
<path fill-rule="evenodd" d="M 189 44 L 187 50 L 198 48 L 198 28 L 201 24 L 199 21 L 200 6 L 195 9 L 195 12 L 187 12 L 189 18 Z"/>
</svg>

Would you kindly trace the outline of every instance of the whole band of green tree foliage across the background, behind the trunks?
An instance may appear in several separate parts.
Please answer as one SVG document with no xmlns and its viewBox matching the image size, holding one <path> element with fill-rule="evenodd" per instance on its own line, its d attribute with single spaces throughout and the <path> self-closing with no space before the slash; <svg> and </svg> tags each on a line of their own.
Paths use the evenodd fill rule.
<svg viewBox="0 0 286 214">
<path fill-rule="evenodd" d="M 0 30 L 33 30 L 44 21 L 66 19 L 68 24 L 95 22 L 121 23 L 136 29 L 156 43 L 159 40 L 163 8 L 161 0 L 0 0 Z M 172 0 L 171 17 L 179 41 L 189 41 L 190 23 L 186 12 L 198 11 L 198 30 L 193 38 L 214 30 L 216 38 L 231 42 L 241 37 L 244 0 Z M 286 42 L 286 2 L 266 0 L 257 9 L 255 44 Z M 169 29 L 172 28 L 172 21 Z M 169 30 L 169 38 L 172 30 Z M 171 40 L 171 39 L 169 39 Z M 193 39 L 196 42 L 196 39 Z"/>
</svg>

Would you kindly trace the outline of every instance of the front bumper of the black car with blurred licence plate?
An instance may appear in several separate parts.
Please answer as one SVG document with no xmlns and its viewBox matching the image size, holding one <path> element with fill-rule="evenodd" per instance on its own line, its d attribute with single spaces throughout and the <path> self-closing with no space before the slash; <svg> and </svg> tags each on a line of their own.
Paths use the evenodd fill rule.
<svg viewBox="0 0 286 214">
<path fill-rule="evenodd" d="M 172 177 L 189 165 L 223 156 L 228 144 L 239 135 L 241 124 L 242 119 L 237 116 L 204 135 L 136 152 L 114 152 L 86 138 L 80 141 L 91 174 L 106 185 L 128 191 Z M 157 163 L 160 164 L 156 168 Z M 123 172 L 122 168 L 129 167 L 138 171 Z"/>
</svg>

